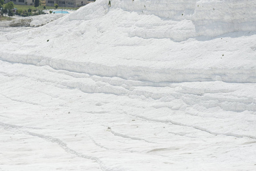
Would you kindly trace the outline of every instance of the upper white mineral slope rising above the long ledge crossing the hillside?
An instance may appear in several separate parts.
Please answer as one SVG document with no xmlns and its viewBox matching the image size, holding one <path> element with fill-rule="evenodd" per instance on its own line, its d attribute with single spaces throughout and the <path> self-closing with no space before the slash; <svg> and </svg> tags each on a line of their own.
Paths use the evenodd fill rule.
<svg viewBox="0 0 256 171">
<path fill-rule="evenodd" d="M 245 1 L 246 9 L 240 1 L 192 2 L 97 1 L 44 27 L 1 36 L 0 58 L 150 82 L 255 83 L 256 2 Z M 246 18 L 234 15 L 241 11 Z"/>
</svg>

